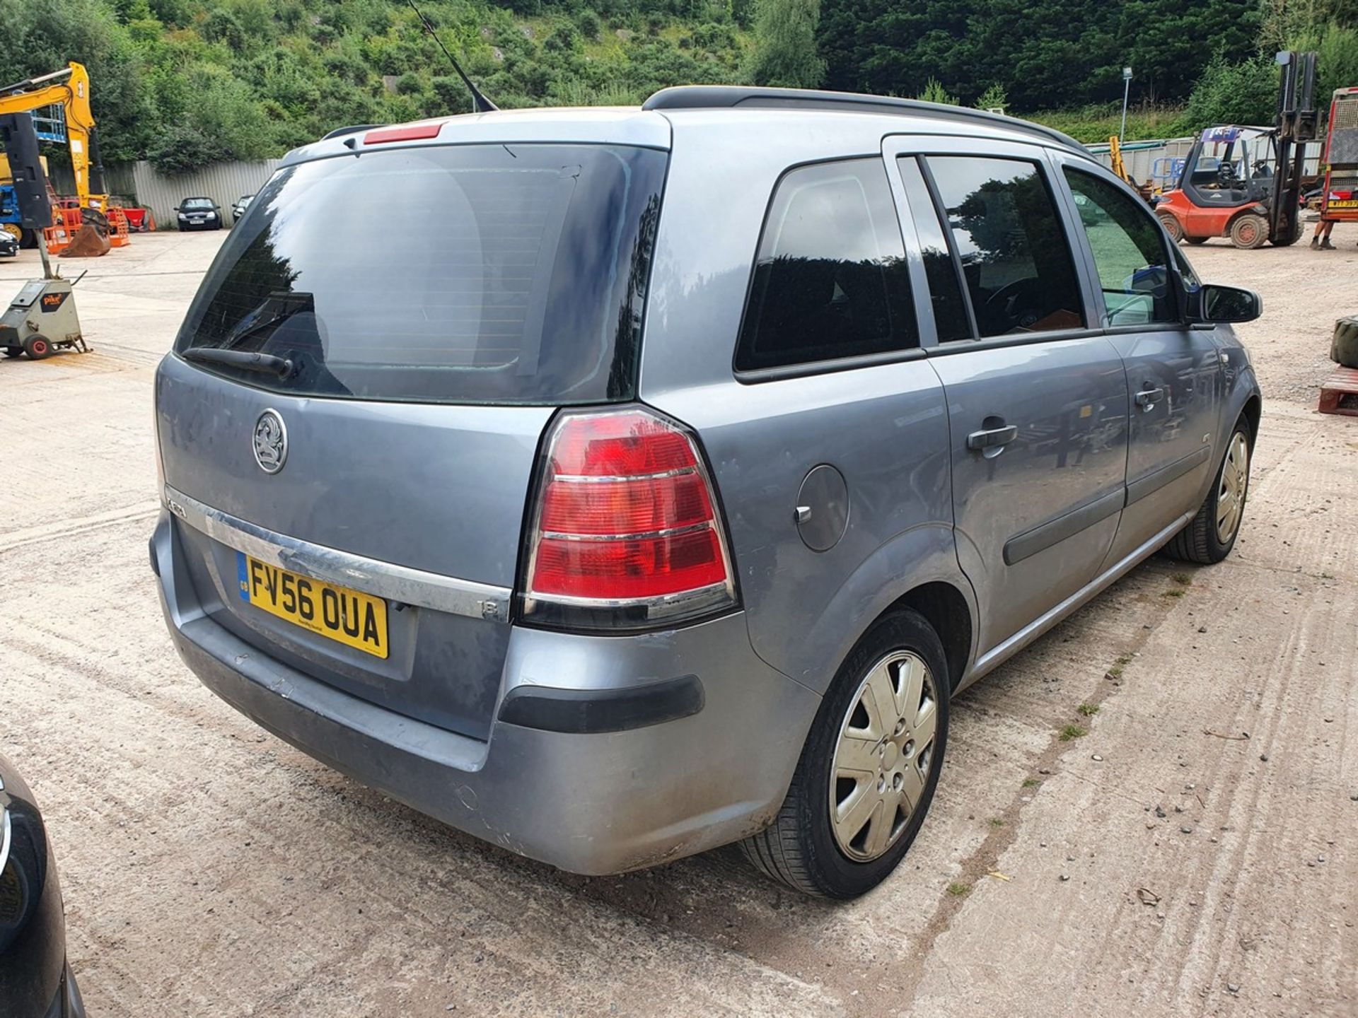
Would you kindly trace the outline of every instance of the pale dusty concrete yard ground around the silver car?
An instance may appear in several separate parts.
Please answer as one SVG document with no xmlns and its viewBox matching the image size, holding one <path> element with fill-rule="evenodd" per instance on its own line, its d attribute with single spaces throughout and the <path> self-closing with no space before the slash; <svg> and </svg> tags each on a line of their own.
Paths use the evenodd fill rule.
<svg viewBox="0 0 1358 1018">
<path fill-rule="evenodd" d="M 147 563 L 151 376 L 220 240 L 86 262 L 94 352 L 0 362 L 0 747 L 92 1015 L 1358 1015 L 1358 419 L 1315 413 L 1358 229 L 1191 251 L 1266 303 L 1236 554 L 1152 559 L 963 695 L 929 823 L 851 904 L 729 850 L 553 871 L 197 683 Z"/>
</svg>

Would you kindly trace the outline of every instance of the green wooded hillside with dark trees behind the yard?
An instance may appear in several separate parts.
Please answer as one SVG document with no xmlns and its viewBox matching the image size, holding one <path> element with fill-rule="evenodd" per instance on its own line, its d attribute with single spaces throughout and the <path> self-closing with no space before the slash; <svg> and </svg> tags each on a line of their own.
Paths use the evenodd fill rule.
<svg viewBox="0 0 1358 1018">
<path fill-rule="evenodd" d="M 636 103 L 682 83 L 826 86 L 1107 137 L 1272 117 L 1272 50 L 1358 84 L 1358 0 L 426 0 L 502 107 Z M 405 0 L 4 0 L 0 73 L 88 65 L 106 162 L 278 155 L 344 124 L 469 109 Z M 1353 80 L 1348 80 L 1348 79 Z M 1328 94 L 1328 91 L 1323 92 Z M 1058 113 L 1051 113 L 1051 111 Z M 1047 113 L 1043 113 L 1047 111 Z"/>
</svg>

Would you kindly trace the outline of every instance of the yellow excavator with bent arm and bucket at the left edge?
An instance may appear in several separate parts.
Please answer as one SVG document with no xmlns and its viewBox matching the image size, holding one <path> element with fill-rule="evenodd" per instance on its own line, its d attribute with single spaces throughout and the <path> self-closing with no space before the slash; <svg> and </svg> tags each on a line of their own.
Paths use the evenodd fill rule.
<svg viewBox="0 0 1358 1018">
<path fill-rule="evenodd" d="M 76 202 L 81 220 L 106 240 L 109 195 L 103 183 L 103 164 L 99 162 L 94 114 L 90 110 L 90 73 L 83 64 L 72 61 L 50 75 L 0 87 L 0 115 L 33 113 L 48 106 L 60 109 L 62 115 L 58 121 L 48 122 L 53 133 L 39 130 L 39 137 L 61 140 L 64 134 L 71 149 L 71 168 L 76 178 Z M 0 167 L 0 176 L 8 178 L 8 164 Z M 0 216 L 0 228 L 10 229 L 4 219 Z"/>
</svg>

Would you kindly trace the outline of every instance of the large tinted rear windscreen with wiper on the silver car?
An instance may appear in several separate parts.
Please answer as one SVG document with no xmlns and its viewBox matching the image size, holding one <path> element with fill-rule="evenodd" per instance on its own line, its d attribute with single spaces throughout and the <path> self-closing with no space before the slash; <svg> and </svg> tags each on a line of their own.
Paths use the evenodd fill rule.
<svg viewBox="0 0 1358 1018">
<path fill-rule="evenodd" d="M 270 354 L 297 395 L 580 403 L 634 395 L 667 156 L 608 145 L 363 151 L 278 171 L 175 350 Z"/>
</svg>

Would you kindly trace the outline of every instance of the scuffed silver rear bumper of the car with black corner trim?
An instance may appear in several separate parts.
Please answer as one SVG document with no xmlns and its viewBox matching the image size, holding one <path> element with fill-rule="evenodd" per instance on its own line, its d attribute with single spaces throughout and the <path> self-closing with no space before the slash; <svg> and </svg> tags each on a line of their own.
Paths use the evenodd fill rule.
<svg viewBox="0 0 1358 1018">
<path fill-rule="evenodd" d="M 740 614 L 630 637 L 516 627 L 490 736 L 470 738 L 311 679 L 219 626 L 187 582 L 177 525 L 162 513 L 152 563 L 175 647 L 209 690 L 335 770 L 573 873 L 653 866 L 765 827 L 819 706 L 754 653 Z"/>
</svg>

